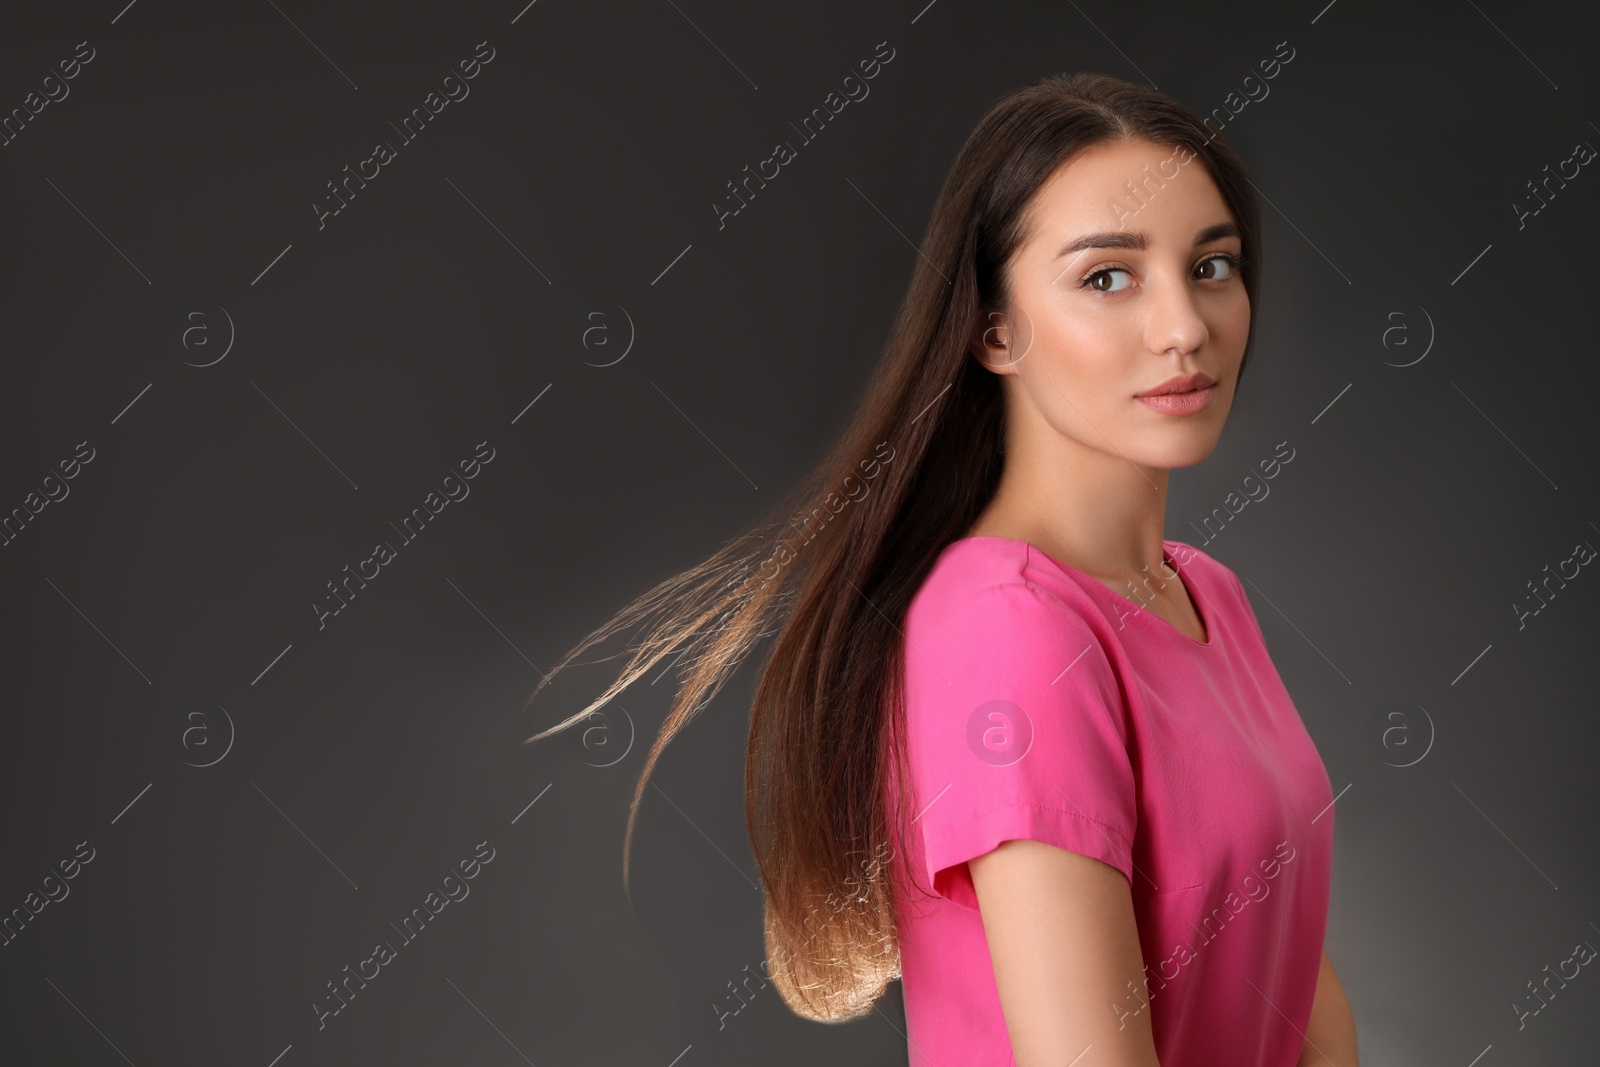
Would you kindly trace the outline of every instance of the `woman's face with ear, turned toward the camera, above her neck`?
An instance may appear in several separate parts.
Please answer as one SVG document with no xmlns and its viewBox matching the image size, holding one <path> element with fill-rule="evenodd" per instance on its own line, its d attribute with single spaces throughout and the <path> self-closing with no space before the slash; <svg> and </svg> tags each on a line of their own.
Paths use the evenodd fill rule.
<svg viewBox="0 0 1600 1067">
<path fill-rule="evenodd" d="M 1014 376 L 1022 426 L 1141 467 L 1205 459 L 1250 331 L 1242 242 L 1205 165 L 1149 141 L 1098 144 L 1038 189 L 1029 219 L 1008 266 L 1010 315 L 978 326 L 984 363 Z M 1214 387 L 1138 398 L 1190 374 Z"/>
</svg>

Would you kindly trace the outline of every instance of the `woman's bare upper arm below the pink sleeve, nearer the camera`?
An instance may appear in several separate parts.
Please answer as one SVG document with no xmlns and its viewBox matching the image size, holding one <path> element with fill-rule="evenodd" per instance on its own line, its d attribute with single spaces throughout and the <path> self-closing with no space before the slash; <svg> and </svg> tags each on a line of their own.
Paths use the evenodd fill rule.
<svg viewBox="0 0 1600 1067">
<path fill-rule="evenodd" d="M 1128 878 L 1034 840 L 1002 841 L 966 870 L 1018 1067 L 1090 1046 L 1096 1067 L 1160 1067 Z"/>
</svg>

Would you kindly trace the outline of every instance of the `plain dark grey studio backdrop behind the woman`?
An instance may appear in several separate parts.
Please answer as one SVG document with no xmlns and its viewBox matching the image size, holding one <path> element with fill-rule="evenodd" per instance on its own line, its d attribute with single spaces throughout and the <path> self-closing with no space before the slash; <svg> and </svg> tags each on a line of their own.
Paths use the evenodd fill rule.
<svg viewBox="0 0 1600 1067">
<path fill-rule="evenodd" d="M 1278 42 L 1224 130 L 1267 198 L 1258 349 L 1168 536 L 1246 579 L 1333 777 L 1363 1064 L 1592 1054 L 1600 977 L 1520 1030 L 1514 1005 L 1600 944 L 1600 577 L 1522 629 L 1514 605 L 1600 545 L 1600 176 L 1522 229 L 1514 203 L 1600 146 L 1594 16 L 123 5 L 0 10 L 0 114 L 96 51 L 0 147 L 0 514 L 94 450 L 0 549 L 0 913 L 94 849 L 0 947 L 3 1059 L 906 1062 L 898 985 L 850 1025 L 770 985 L 718 1021 L 763 955 L 752 669 L 646 790 L 632 905 L 622 825 L 672 675 L 533 747 L 611 675 L 522 702 L 821 458 L 998 94 L 1093 69 L 1205 112 Z M 470 96 L 318 230 L 325 182 L 485 40 Z M 725 184 L 878 42 L 870 96 L 718 229 Z M 483 440 L 470 496 L 318 630 L 326 582 Z M 1202 536 L 1280 442 L 1270 496 Z M 318 1029 L 325 984 L 480 841 L 470 896 Z"/>
</svg>

